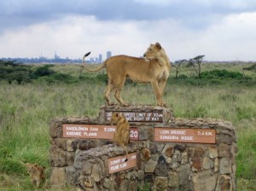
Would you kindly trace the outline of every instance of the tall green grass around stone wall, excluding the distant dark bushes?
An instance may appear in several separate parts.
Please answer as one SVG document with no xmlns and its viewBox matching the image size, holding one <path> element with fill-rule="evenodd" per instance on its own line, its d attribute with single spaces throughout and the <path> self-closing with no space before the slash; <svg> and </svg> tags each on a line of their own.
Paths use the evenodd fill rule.
<svg viewBox="0 0 256 191">
<path fill-rule="evenodd" d="M 64 70 L 65 68 L 59 68 Z M 0 84 L 0 188 L 31 190 L 26 162 L 49 167 L 49 121 L 60 116 L 97 116 L 105 82 Z M 167 84 L 165 101 L 179 118 L 225 119 L 236 126 L 238 187 L 256 190 L 256 87 L 242 84 Z M 131 104 L 155 104 L 149 84 L 127 84 Z M 113 98 L 114 101 L 114 98 Z M 63 188 L 64 189 L 64 188 Z M 68 188 L 65 188 L 68 190 Z M 54 190 L 54 189 L 53 189 Z M 246 190 L 246 188 L 244 189 Z"/>
</svg>

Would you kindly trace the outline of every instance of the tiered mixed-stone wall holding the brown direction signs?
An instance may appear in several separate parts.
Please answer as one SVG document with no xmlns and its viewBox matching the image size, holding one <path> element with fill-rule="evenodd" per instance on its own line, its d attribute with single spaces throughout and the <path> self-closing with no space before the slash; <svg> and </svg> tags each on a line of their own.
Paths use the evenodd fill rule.
<svg viewBox="0 0 256 191">
<path fill-rule="evenodd" d="M 136 155 L 136 165 L 117 172 L 110 171 L 109 159 L 123 157 L 125 151 L 113 144 L 111 138 L 63 138 L 63 124 L 108 125 L 109 115 L 114 111 L 125 113 L 138 133 L 137 141 L 127 146 L 128 153 Z M 156 142 L 157 128 L 176 130 L 174 134 L 195 130 L 205 138 L 209 130 L 214 130 L 215 143 L 207 139 L 185 142 L 179 135 L 175 142 Z M 175 119 L 171 110 L 162 107 L 101 107 L 96 118 L 53 120 L 49 134 L 50 180 L 55 185 L 68 182 L 82 190 L 137 190 L 147 186 L 173 191 L 236 190 L 235 130 L 224 120 Z M 193 135 L 187 137 L 194 139 Z"/>
</svg>

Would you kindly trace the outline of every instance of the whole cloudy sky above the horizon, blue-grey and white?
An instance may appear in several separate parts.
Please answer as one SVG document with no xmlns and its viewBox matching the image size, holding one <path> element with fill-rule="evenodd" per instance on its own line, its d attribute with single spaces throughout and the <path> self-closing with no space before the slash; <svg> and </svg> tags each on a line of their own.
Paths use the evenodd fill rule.
<svg viewBox="0 0 256 191">
<path fill-rule="evenodd" d="M 1 0 L 0 58 L 142 56 L 256 61 L 256 0 Z"/>
</svg>

